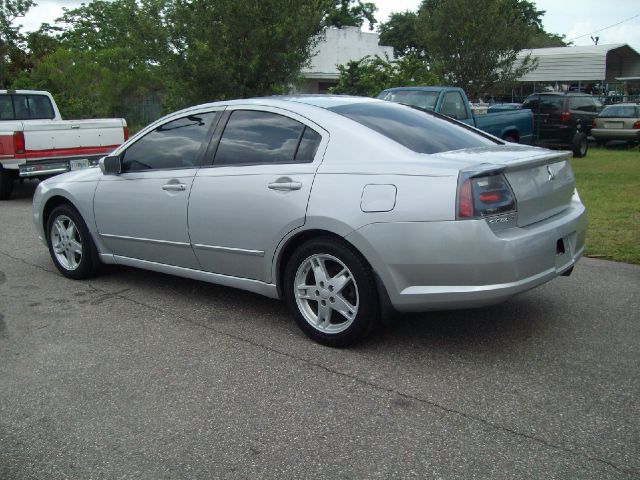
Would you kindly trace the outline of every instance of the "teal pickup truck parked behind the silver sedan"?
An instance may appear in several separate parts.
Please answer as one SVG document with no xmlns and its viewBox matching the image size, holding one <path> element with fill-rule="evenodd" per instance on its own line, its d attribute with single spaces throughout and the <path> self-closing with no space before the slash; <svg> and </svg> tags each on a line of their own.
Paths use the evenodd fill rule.
<svg viewBox="0 0 640 480">
<path fill-rule="evenodd" d="M 474 115 L 461 88 L 398 87 L 383 90 L 378 98 L 431 110 L 476 127 L 507 142 L 533 143 L 531 110 L 505 110 Z"/>
</svg>

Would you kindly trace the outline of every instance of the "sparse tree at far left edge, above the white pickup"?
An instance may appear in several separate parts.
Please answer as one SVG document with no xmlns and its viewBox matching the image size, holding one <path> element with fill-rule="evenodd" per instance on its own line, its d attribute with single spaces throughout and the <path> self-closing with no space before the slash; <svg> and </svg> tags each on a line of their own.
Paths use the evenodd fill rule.
<svg viewBox="0 0 640 480">
<path fill-rule="evenodd" d="M 0 88 L 8 88 L 26 64 L 24 36 L 14 22 L 24 17 L 33 5 L 33 0 L 2 0 L 0 3 Z"/>
</svg>

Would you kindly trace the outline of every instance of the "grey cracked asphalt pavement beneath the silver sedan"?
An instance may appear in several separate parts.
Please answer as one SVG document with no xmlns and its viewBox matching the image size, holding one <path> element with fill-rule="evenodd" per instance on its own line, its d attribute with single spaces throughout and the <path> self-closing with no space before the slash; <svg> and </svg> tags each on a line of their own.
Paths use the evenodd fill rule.
<svg viewBox="0 0 640 480">
<path fill-rule="evenodd" d="M 1 479 L 640 476 L 637 266 L 334 350 L 253 294 L 63 278 L 33 188 L 0 203 Z"/>
</svg>

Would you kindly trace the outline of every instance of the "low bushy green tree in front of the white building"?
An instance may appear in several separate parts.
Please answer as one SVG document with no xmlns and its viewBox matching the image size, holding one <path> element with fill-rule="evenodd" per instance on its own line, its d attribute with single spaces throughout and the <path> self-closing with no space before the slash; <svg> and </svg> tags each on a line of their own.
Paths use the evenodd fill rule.
<svg viewBox="0 0 640 480">
<path fill-rule="evenodd" d="M 437 77 L 415 54 L 399 60 L 367 56 L 338 65 L 340 76 L 332 93 L 373 97 L 385 88 L 408 85 L 433 85 Z"/>
</svg>

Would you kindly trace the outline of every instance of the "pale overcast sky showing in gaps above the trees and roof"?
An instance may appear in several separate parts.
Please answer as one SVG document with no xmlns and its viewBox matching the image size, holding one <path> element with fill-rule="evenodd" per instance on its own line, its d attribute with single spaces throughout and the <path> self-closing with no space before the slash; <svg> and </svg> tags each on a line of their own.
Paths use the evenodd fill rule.
<svg viewBox="0 0 640 480">
<path fill-rule="evenodd" d="M 416 10 L 420 0 L 370 0 L 378 6 L 378 21 L 384 22 L 391 12 Z M 74 8 L 82 2 L 64 0 L 36 0 L 19 23 L 27 30 L 37 30 L 42 22 L 53 23 L 62 14 L 62 7 Z M 600 44 L 628 43 L 640 52 L 640 1 L 615 0 L 537 0 L 545 10 L 544 27 L 548 32 L 564 34 L 575 45 L 592 45 L 590 34 L 600 37 Z M 630 19 L 631 17 L 635 17 Z M 630 19 L 630 20 L 628 20 Z M 627 21 L 625 21 L 627 20 Z M 619 23 L 620 25 L 609 27 Z M 606 30 L 596 32 L 606 28 Z M 577 38 L 581 37 L 581 38 Z"/>
</svg>

